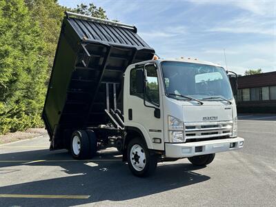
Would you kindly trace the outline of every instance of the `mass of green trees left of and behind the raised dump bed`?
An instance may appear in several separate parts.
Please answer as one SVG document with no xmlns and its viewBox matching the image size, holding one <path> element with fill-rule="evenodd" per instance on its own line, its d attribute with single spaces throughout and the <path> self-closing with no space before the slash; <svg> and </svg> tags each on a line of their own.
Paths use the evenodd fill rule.
<svg viewBox="0 0 276 207">
<path fill-rule="evenodd" d="M 0 0 L 0 135 L 41 127 L 41 112 L 64 10 L 107 18 L 92 3 Z"/>
</svg>

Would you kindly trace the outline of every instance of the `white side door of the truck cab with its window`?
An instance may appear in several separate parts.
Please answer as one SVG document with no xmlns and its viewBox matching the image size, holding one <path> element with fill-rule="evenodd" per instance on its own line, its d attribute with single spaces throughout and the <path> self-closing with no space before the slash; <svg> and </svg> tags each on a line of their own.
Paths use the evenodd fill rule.
<svg viewBox="0 0 276 207">
<path fill-rule="evenodd" d="M 144 70 L 144 90 L 139 90 L 137 70 Z M 163 107 L 161 77 L 153 63 L 128 70 L 125 81 L 125 126 L 138 128 L 144 135 L 148 148 L 164 150 Z M 140 73 L 141 74 L 141 73 Z"/>
</svg>

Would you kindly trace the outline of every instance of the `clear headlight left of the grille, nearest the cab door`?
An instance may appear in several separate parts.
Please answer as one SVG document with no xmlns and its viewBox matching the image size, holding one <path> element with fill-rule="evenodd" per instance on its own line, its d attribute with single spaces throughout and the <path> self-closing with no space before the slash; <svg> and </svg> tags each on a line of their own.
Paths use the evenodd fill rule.
<svg viewBox="0 0 276 207">
<path fill-rule="evenodd" d="M 179 119 L 168 116 L 168 138 L 170 142 L 184 142 L 184 123 Z"/>
</svg>

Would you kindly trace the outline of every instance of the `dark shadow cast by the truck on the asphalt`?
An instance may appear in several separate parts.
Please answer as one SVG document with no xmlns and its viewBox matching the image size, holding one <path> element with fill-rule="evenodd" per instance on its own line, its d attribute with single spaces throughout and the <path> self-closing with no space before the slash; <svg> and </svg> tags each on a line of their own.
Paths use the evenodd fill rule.
<svg viewBox="0 0 276 207">
<path fill-rule="evenodd" d="M 32 150 L 1 154 L 1 161 L 19 160 L 19 162 L 0 162 L 0 169 L 20 169 L 8 173 L 9 177 L 12 177 L 12 173 L 17 173 L 14 176 L 22 175 L 24 180 L 28 179 L 28 176 L 31 180 L 38 178 L 39 180 L 0 187 L 0 194 L 90 195 L 90 197 L 88 199 L 1 198 L 0 206 L 73 206 L 97 201 L 124 201 L 148 195 L 154 196 L 156 193 L 210 179 L 196 172 L 200 168 L 176 162 L 159 164 L 155 175 L 151 177 L 135 177 L 128 170 L 127 164 L 116 157 L 118 155 L 119 152 L 106 152 L 98 154 L 94 158 L 95 161 L 73 161 L 64 150 L 55 152 Z M 34 158 L 37 161 L 31 161 Z M 32 166 L 32 171 L 25 166 Z M 24 174 L 30 172 L 32 172 L 30 175 Z M 49 179 L 49 177 L 54 178 Z"/>
</svg>

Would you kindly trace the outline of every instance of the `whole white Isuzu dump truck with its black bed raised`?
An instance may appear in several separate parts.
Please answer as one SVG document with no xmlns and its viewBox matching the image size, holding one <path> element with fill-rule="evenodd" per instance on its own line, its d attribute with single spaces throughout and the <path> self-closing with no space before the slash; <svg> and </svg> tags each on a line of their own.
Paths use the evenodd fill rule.
<svg viewBox="0 0 276 207">
<path fill-rule="evenodd" d="M 138 177 L 159 161 L 206 166 L 244 146 L 237 75 L 228 75 L 198 59 L 159 59 L 135 26 L 66 12 L 42 114 L 50 150 L 90 159 L 115 147 Z"/>
</svg>

